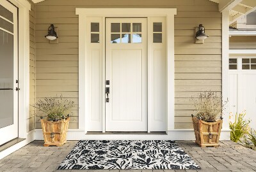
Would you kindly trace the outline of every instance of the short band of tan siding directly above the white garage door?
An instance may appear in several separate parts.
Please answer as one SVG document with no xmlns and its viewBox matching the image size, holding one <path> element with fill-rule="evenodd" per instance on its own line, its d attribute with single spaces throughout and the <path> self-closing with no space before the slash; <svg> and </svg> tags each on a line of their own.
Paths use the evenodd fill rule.
<svg viewBox="0 0 256 172">
<path fill-rule="evenodd" d="M 256 49 L 256 36 L 231 36 L 229 49 Z"/>
</svg>

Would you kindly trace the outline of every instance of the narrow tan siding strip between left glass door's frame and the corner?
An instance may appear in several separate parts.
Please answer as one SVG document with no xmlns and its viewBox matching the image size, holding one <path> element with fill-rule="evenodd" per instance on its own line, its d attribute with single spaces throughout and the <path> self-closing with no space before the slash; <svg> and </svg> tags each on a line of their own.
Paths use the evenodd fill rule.
<svg viewBox="0 0 256 172">
<path fill-rule="evenodd" d="M 29 11 L 29 104 L 35 104 L 35 4 L 31 1 L 31 10 Z M 29 106 L 27 131 L 35 129 L 35 108 Z"/>
</svg>

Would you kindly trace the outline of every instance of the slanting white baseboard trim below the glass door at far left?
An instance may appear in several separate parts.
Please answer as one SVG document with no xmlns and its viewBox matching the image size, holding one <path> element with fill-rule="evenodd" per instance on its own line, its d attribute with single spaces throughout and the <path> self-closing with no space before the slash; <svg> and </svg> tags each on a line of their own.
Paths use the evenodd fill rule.
<svg viewBox="0 0 256 172">
<path fill-rule="evenodd" d="M 16 150 L 19 150 L 25 145 L 28 145 L 28 143 L 30 143 L 31 141 L 34 141 L 35 140 L 34 136 L 35 136 L 35 129 L 28 132 L 26 140 L 20 141 L 19 143 L 12 145 L 12 147 L 6 148 L 2 152 L 0 152 L 0 159 L 3 159 L 7 155 L 10 155 Z"/>
</svg>

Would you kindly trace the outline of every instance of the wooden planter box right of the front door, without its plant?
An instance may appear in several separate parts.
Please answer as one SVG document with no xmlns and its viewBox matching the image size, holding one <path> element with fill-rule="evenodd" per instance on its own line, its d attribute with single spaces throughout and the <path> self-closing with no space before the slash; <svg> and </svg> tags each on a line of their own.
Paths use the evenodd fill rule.
<svg viewBox="0 0 256 172">
<path fill-rule="evenodd" d="M 218 147 L 223 120 L 205 122 L 192 117 L 196 144 L 200 147 Z"/>
</svg>

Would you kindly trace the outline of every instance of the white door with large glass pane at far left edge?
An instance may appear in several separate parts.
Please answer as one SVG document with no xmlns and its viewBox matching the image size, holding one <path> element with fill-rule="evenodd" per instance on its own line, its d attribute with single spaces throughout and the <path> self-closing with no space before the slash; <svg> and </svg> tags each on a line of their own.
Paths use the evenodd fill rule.
<svg viewBox="0 0 256 172">
<path fill-rule="evenodd" d="M 18 137 L 17 8 L 0 1 L 0 145 Z"/>
</svg>

